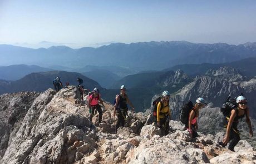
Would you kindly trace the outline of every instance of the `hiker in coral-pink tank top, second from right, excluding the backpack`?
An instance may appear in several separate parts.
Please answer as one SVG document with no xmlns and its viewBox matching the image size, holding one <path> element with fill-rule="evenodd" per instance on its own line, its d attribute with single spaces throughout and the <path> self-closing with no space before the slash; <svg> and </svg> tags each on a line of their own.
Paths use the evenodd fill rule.
<svg viewBox="0 0 256 164">
<path fill-rule="evenodd" d="M 199 97 L 196 99 L 195 106 L 191 108 L 189 112 L 189 121 L 186 124 L 186 128 L 189 131 L 190 136 L 193 138 L 198 137 L 198 133 L 196 131 L 198 130 L 199 110 L 204 108 L 206 105 L 207 103 L 204 98 Z"/>
</svg>

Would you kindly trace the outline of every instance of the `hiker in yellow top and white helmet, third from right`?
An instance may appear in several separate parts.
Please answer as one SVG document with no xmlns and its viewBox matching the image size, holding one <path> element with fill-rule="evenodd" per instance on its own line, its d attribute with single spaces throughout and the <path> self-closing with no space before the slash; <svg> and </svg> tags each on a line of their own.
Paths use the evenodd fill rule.
<svg viewBox="0 0 256 164">
<path fill-rule="evenodd" d="M 169 99 L 170 93 L 168 91 L 164 91 L 161 100 L 157 103 L 156 108 L 156 123 L 161 130 L 164 130 L 165 136 L 169 133 L 169 122 L 171 118 Z"/>
</svg>

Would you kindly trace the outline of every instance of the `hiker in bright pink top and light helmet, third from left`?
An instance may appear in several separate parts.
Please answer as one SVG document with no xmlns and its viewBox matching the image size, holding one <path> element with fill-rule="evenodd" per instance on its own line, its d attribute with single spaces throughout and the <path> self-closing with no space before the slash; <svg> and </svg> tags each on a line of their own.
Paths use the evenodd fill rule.
<svg viewBox="0 0 256 164">
<path fill-rule="evenodd" d="M 101 106 L 99 105 L 99 101 L 102 104 L 102 106 L 105 108 L 104 103 L 101 99 L 100 96 L 100 91 L 98 88 L 94 88 L 93 94 L 89 97 L 88 101 L 88 108 L 89 108 L 89 113 L 90 113 L 90 121 L 92 121 L 92 117 L 94 115 L 94 111 L 97 110 L 99 112 L 99 124 L 101 123 L 102 120 L 102 110 Z"/>
</svg>

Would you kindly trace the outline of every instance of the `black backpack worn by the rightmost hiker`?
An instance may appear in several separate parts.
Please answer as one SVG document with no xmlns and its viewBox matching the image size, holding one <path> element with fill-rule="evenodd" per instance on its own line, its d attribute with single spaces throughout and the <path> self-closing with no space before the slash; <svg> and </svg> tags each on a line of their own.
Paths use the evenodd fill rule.
<svg viewBox="0 0 256 164">
<path fill-rule="evenodd" d="M 239 96 L 244 96 L 243 93 L 241 93 Z M 237 96 L 238 97 L 238 96 Z M 220 111 L 223 113 L 223 115 L 225 117 L 229 117 L 230 116 L 230 112 L 234 109 L 238 107 L 238 103 L 237 103 L 237 97 L 231 98 L 230 96 L 228 96 L 227 100 L 224 102 L 224 104 L 222 105 L 222 107 L 220 108 Z"/>
</svg>

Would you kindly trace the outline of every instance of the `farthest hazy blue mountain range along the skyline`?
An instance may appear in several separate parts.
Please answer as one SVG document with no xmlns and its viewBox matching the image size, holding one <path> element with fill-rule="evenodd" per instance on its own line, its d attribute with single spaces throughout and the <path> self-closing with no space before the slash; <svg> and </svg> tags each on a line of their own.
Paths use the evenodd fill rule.
<svg viewBox="0 0 256 164">
<path fill-rule="evenodd" d="M 61 65 L 71 68 L 87 64 L 96 66 L 120 66 L 134 71 L 164 69 L 177 64 L 227 63 L 256 57 L 256 43 L 195 44 L 185 41 L 113 43 L 99 48 L 72 49 L 67 46 L 50 48 L 24 48 L 0 45 L 0 65 L 37 64 Z"/>
</svg>

